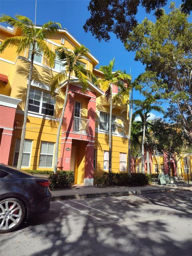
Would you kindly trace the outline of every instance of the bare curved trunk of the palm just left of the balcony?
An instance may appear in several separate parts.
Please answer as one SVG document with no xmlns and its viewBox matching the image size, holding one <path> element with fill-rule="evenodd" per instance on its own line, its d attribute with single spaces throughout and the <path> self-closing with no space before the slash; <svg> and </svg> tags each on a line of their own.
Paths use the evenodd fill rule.
<svg viewBox="0 0 192 256">
<path fill-rule="evenodd" d="M 53 165 L 53 172 L 54 173 L 57 172 L 59 136 L 60 136 L 60 131 L 61 131 L 62 123 L 63 123 L 63 117 L 64 117 L 65 108 L 66 108 L 66 104 L 67 104 L 69 84 L 70 84 L 70 74 L 69 74 L 69 77 L 68 77 L 68 83 L 67 83 L 67 86 L 66 86 L 63 109 L 62 109 L 62 113 L 61 113 L 61 116 L 60 116 L 60 121 L 59 121 L 59 126 L 58 126 L 58 131 L 57 131 L 57 138 L 56 138 L 56 144 L 55 144 L 55 154 L 54 154 L 54 165 Z"/>
</svg>

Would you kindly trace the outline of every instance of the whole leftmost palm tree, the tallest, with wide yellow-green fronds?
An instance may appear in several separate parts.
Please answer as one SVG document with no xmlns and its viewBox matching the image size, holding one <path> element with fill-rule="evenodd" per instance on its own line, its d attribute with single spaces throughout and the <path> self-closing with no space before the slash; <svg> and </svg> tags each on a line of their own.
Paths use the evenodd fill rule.
<svg viewBox="0 0 192 256">
<path fill-rule="evenodd" d="M 26 93 L 26 102 L 25 102 L 25 112 L 24 112 L 24 121 L 21 134 L 20 150 L 18 156 L 17 168 L 21 169 L 22 158 L 23 158 L 23 149 L 24 149 L 24 140 L 26 134 L 26 123 L 27 123 L 27 114 L 28 114 L 28 104 L 29 104 L 29 95 L 30 95 L 30 86 L 32 81 L 32 71 L 33 71 L 33 61 L 34 55 L 42 53 L 46 59 L 49 61 L 50 66 L 53 66 L 55 53 L 48 48 L 46 42 L 47 38 L 57 34 L 58 29 L 61 25 L 57 22 L 47 22 L 44 23 L 41 28 L 36 28 L 32 20 L 25 16 L 16 15 L 15 18 L 12 18 L 6 14 L 3 14 L 0 17 L 0 22 L 6 23 L 12 27 L 18 28 L 21 30 L 21 36 L 12 36 L 6 38 L 4 42 L 0 45 L 0 53 L 2 53 L 7 47 L 16 46 L 16 53 L 21 54 L 26 50 L 26 48 L 32 48 L 32 54 L 30 59 L 30 69 L 27 83 L 27 93 Z"/>
</svg>

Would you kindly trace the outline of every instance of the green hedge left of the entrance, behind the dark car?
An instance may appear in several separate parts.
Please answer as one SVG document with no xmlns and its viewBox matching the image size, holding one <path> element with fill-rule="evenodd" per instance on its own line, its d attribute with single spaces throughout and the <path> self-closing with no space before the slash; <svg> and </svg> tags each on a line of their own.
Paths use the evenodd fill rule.
<svg viewBox="0 0 192 256">
<path fill-rule="evenodd" d="M 74 184 L 74 172 L 73 171 L 58 171 L 54 173 L 49 170 L 25 170 L 31 174 L 48 174 L 50 180 L 50 188 L 71 188 Z"/>
</svg>

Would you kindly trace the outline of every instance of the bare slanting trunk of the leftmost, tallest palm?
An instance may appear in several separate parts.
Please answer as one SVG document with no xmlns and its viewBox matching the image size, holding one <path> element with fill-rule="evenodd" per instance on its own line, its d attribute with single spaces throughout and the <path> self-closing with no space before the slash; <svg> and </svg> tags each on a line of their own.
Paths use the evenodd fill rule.
<svg viewBox="0 0 192 256">
<path fill-rule="evenodd" d="M 17 162 L 17 168 L 19 170 L 21 169 L 22 159 L 23 159 L 23 149 L 24 149 L 25 134 L 26 134 L 26 124 L 27 124 L 27 114 L 28 114 L 28 106 L 29 106 L 30 87 L 31 87 L 32 72 L 33 72 L 34 50 L 35 50 L 35 41 L 33 42 L 33 48 L 32 48 L 32 54 L 31 54 L 31 63 L 30 63 L 29 78 L 28 78 L 28 84 L 27 84 L 27 94 L 26 94 L 26 102 L 25 102 L 24 120 L 23 120 L 23 127 L 22 127 L 22 133 L 21 133 L 21 142 L 20 142 L 19 156 L 18 156 L 18 162 Z"/>
</svg>

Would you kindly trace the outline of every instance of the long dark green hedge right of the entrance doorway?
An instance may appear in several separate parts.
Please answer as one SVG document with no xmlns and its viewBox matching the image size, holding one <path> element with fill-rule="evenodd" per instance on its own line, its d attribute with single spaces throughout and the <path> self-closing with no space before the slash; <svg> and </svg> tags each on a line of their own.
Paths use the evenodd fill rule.
<svg viewBox="0 0 192 256">
<path fill-rule="evenodd" d="M 151 174 L 143 173 L 108 173 L 104 172 L 102 177 L 94 177 L 97 186 L 144 186 L 152 182 Z"/>
</svg>

